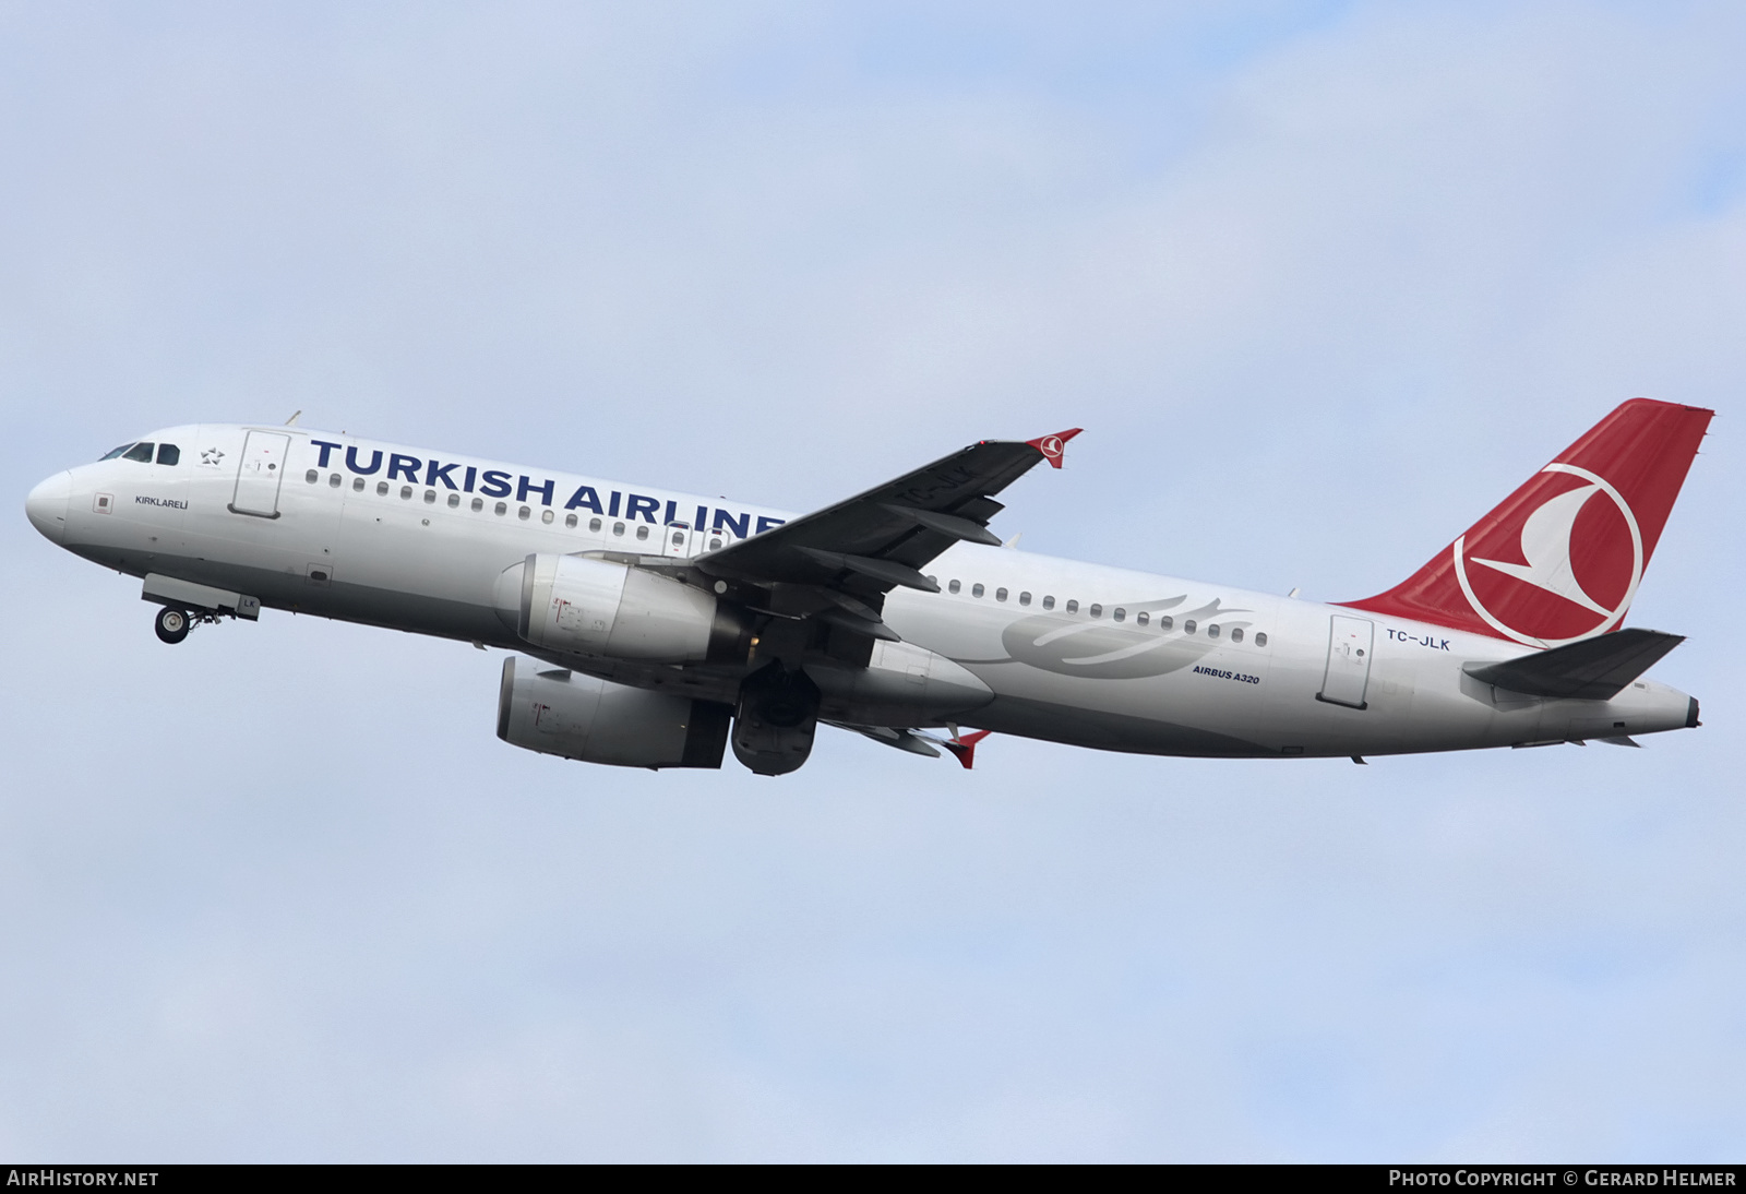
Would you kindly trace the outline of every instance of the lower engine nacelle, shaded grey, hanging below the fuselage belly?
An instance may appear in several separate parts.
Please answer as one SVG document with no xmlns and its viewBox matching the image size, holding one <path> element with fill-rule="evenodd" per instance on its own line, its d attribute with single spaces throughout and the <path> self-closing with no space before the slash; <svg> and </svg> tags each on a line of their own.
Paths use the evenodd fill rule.
<svg viewBox="0 0 1746 1194">
<path fill-rule="evenodd" d="M 719 768 L 733 709 L 503 660 L 498 737 L 541 754 L 611 766 Z"/>
</svg>

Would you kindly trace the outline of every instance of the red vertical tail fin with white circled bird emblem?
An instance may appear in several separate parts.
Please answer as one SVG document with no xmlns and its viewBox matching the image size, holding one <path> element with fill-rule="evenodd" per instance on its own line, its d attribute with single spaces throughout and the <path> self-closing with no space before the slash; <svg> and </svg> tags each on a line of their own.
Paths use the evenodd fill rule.
<svg viewBox="0 0 1746 1194">
<path fill-rule="evenodd" d="M 1645 398 L 1624 403 L 1411 578 L 1343 604 L 1528 646 L 1613 630 L 1709 415 Z"/>
</svg>

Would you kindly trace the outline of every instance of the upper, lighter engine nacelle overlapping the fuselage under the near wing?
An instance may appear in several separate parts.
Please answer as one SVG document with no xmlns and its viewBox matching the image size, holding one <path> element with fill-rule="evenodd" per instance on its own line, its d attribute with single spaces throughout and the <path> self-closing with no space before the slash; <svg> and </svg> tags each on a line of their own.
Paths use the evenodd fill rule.
<svg viewBox="0 0 1746 1194">
<path fill-rule="evenodd" d="M 613 560 L 529 555 L 519 597 L 515 632 L 548 651 L 732 663 L 746 658 L 751 641 L 744 614 L 714 594 Z"/>
</svg>

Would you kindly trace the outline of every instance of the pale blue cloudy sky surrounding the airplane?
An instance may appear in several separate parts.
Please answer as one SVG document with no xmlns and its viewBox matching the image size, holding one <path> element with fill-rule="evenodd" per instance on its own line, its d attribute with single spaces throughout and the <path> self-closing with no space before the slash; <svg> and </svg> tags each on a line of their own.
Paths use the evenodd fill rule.
<svg viewBox="0 0 1746 1194">
<path fill-rule="evenodd" d="M 0 7 L 0 1152 L 1736 1159 L 1734 5 Z M 31 484 L 283 419 L 1318 599 L 1720 410 L 1643 751 L 794 777 L 492 735 L 496 653 L 150 634 Z"/>
</svg>

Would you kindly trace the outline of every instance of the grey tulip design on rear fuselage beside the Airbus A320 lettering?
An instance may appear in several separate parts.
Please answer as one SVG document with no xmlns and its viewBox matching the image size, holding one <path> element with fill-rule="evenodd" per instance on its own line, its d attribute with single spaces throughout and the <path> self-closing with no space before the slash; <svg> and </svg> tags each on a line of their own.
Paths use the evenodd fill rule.
<svg viewBox="0 0 1746 1194">
<path fill-rule="evenodd" d="M 1217 625 L 1222 634 L 1250 625 L 1222 621 L 1229 614 L 1250 611 L 1220 609 L 1217 597 L 1198 609 L 1177 611 L 1184 600 L 1187 595 L 1119 606 L 1126 611 L 1124 621 L 1088 620 L 1084 614 L 1032 614 L 1000 632 L 1000 646 L 1009 658 L 959 662 L 1028 663 L 1046 672 L 1088 679 L 1145 679 L 1189 667 L 1217 651 L 1222 639 L 1208 637 L 1208 625 Z M 1166 611 L 1170 611 L 1168 625 L 1161 618 Z M 1138 625 L 1140 613 L 1147 614 L 1144 627 Z M 1189 623 L 1194 623 L 1194 634 L 1186 630 Z"/>
</svg>

